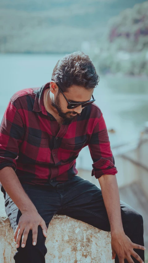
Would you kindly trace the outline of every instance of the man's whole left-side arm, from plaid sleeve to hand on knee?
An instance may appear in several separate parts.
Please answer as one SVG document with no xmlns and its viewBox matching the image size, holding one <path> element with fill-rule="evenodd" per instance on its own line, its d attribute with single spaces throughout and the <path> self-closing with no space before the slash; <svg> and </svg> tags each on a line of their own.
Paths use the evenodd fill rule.
<svg viewBox="0 0 148 263">
<path fill-rule="evenodd" d="M 19 247 L 22 234 L 22 247 L 25 246 L 30 229 L 32 229 L 35 244 L 38 225 L 41 225 L 45 237 L 47 232 L 45 221 L 38 214 L 15 173 L 16 158 L 25 133 L 23 126 L 19 111 L 10 101 L 0 125 L 0 182 L 22 213 L 14 233 L 17 247 Z"/>
</svg>

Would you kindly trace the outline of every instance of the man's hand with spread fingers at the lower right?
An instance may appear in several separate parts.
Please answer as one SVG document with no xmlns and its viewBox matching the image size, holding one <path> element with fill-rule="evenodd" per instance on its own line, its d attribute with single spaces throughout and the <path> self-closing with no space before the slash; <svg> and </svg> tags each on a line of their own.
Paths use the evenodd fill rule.
<svg viewBox="0 0 148 263">
<path fill-rule="evenodd" d="M 124 232 L 122 232 L 122 234 L 111 235 L 111 237 L 112 259 L 116 257 L 117 253 L 120 263 L 124 263 L 125 258 L 129 263 L 134 263 L 134 261 L 131 258 L 131 255 L 135 257 L 140 263 L 144 263 L 143 260 L 133 249 L 145 250 L 145 247 L 134 244 L 130 240 L 130 238 L 125 235 Z"/>
</svg>

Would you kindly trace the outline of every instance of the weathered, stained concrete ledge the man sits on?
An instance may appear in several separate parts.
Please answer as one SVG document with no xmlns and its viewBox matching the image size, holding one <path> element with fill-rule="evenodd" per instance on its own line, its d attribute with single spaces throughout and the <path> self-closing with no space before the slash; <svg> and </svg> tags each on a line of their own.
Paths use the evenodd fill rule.
<svg viewBox="0 0 148 263">
<path fill-rule="evenodd" d="M 0 217 L 0 263 L 14 263 L 13 230 Z M 99 230 L 68 216 L 55 215 L 48 227 L 46 263 L 111 263 L 110 232 Z"/>
</svg>

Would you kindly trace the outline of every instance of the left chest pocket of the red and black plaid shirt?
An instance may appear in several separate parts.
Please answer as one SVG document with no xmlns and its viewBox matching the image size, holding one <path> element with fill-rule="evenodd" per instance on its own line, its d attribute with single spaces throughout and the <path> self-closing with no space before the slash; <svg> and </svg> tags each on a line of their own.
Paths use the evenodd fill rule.
<svg viewBox="0 0 148 263">
<path fill-rule="evenodd" d="M 27 163 L 46 162 L 49 150 L 48 138 L 38 138 L 26 133 L 21 152 Z"/>
</svg>

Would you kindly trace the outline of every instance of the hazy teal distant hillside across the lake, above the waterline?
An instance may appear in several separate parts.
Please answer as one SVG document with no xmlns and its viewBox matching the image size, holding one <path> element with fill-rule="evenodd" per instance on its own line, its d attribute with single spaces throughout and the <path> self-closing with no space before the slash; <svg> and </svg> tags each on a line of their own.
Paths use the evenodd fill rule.
<svg viewBox="0 0 148 263">
<path fill-rule="evenodd" d="M 142 0 L 1 0 L 0 52 L 71 52 L 99 41 L 109 18 Z"/>
</svg>

